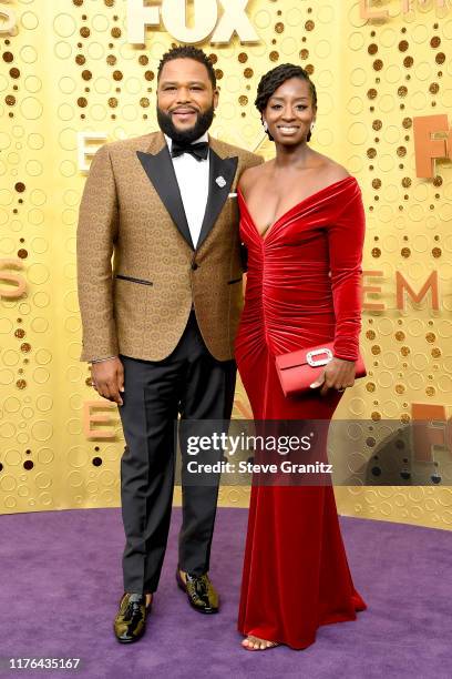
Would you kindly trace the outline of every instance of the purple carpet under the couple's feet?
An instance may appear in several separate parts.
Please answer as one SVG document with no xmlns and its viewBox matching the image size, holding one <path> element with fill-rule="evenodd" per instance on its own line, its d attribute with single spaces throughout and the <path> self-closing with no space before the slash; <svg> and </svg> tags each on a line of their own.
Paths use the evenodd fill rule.
<svg viewBox="0 0 452 679">
<path fill-rule="evenodd" d="M 341 517 L 349 564 L 369 609 L 319 629 L 308 649 L 249 652 L 236 616 L 246 510 L 219 509 L 212 578 L 223 608 L 204 617 L 176 588 L 174 510 L 161 586 L 145 637 L 121 646 L 112 621 L 122 594 L 117 509 L 0 517 L 1 676 L 10 657 L 81 658 L 78 671 L 40 677 L 202 678 L 451 677 L 452 536 L 448 531 Z M 8 667 L 8 666 L 7 666 Z"/>
</svg>

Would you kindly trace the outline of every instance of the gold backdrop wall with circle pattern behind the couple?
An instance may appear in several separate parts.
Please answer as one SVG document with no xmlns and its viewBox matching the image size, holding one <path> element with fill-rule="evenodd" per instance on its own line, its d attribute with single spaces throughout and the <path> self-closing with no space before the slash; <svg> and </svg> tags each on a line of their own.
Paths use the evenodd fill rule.
<svg viewBox="0 0 452 679">
<path fill-rule="evenodd" d="M 93 393 L 79 362 L 78 134 L 155 130 L 156 67 L 174 39 L 161 27 L 146 31 L 145 45 L 130 44 L 125 0 L 3 0 L 0 30 L 8 11 L 17 30 L 0 34 L 0 511 L 117 506 L 117 411 Z M 374 11 L 387 17 L 369 18 Z M 213 134 L 269 158 L 253 105 L 257 82 L 278 63 L 301 63 L 318 89 L 312 146 L 345 164 L 363 192 L 364 270 L 377 272 L 364 277 L 377 288 L 366 301 L 380 308 L 363 314 L 369 375 L 337 417 L 369 426 L 407 423 L 415 408 L 431 414 L 425 406 L 448 414 L 452 174 L 443 159 L 434 179 L 417 178 L 413 118 L 452 105 L 450 3 L 250 0 L 247 12 L 258 43 L 201 45 L 220 87 Z M 431 291 L 417 302 L 399 290 L 398 301 L 398 275 L 419 293 L 432 273 L 438 310 Z M 234 416 L 248 414 L 238 386 Z M 373 446 L 369 436 L 366 448 L 336 455 L 352 473 Z M 451 528 L 450 455 L 439 486 L 339 487 L 339 511 Z M 223 488 L 220 501 L 246 505 L 247 491 Z"/>
</svg>

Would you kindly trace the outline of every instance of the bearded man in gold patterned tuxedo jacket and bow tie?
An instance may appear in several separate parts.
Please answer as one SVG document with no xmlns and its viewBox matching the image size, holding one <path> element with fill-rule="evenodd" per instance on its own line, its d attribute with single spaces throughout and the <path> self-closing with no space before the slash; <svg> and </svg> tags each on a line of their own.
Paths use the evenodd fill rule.
<svg viewBox="0 0 452 679">
<path fill-rule="evenodd" d="M 126 443 L 124 594 L 114 621 L 124 643 L 143 635 L 158 585 L 174 423 L 178 415 L 185 423 L 230 417 L 244 271 L 236 186 L 244 170 L 263 162 L 208 136 L 218 92 L 203 51 L 167 52 L 157 85 L 161 132 L 97 151 L 78 231 L 81 359 L 92 363 L 97 393 L 119 404 Z M 184 463 L 183 445 L 182 456 Z M 196 610 L 212 614 L 218 479 L 203 486 L 184 479 L 176 579 Z"/>
</svg>

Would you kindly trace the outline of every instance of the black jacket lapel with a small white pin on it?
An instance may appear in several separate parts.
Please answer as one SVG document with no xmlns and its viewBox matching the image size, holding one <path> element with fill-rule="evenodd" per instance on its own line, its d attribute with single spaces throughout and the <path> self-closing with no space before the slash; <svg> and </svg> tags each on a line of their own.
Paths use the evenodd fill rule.
<svg viewBox="0 0 452 679">
<path fill-rule="evenodd" d="M 209 153 L 208 199 L 196 250 L 198 250 L 206 240 L 222 212 L 229 194 L 238 163 L 237 156 L 219 158 L 212 146 Z M 219 180 L 219 183 L 217 183 L 217 180 Z M 222 184 L 224 185 L 222 186 Z"/>
</svg>

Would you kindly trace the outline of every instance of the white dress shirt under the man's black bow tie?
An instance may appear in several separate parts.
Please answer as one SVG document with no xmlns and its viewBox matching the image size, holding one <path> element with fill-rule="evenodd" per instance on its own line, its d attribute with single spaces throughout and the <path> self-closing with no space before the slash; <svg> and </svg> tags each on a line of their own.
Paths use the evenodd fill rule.
<svg viewBox="0 0 452 679">
<path fill-rule="evenodd" d="M 166 134 L 165 139 L 171 153 L 173 140 L 166 136 Z M 197 144 L 203 141 L 208 142 L 207 132 L 193 143 Z M 193 245 L 196 247 L 207 206 L 209 155 L 207 155 L 206 160 L 199 161 L 189 153 L 183 153 L 171 160 L 173 161 L 174 172 L 176 173 L 181 190 Z"/>
</svg>

